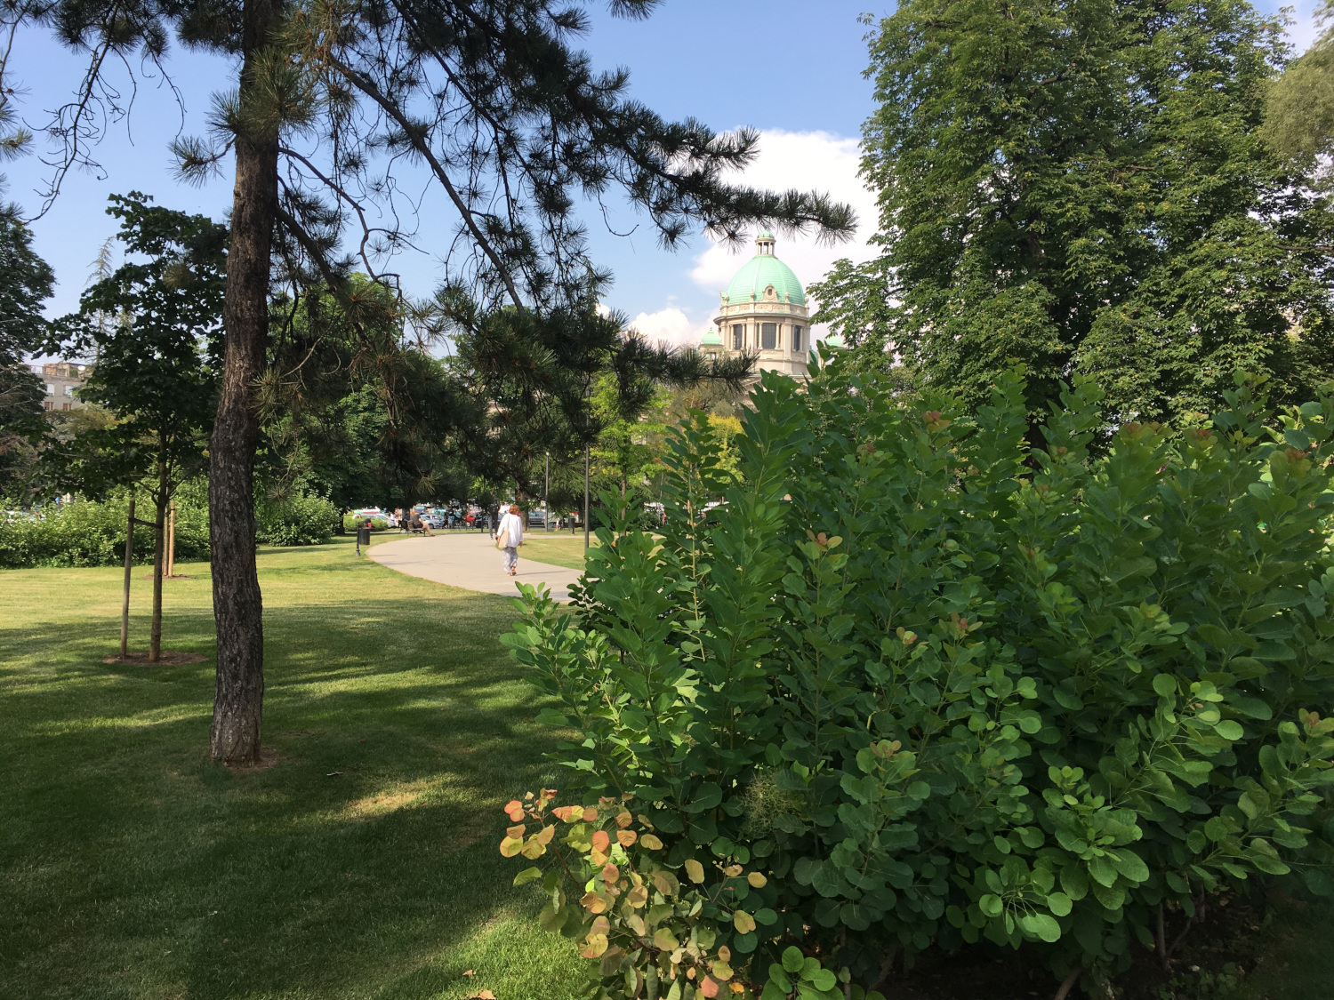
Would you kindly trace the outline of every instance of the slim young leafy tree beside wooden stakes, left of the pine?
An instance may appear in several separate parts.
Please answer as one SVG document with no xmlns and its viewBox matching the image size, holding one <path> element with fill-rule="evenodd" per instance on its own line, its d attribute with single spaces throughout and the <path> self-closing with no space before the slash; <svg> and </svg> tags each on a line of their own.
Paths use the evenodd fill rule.
<svg viewBox="0 0 1334 1000">
<path fill-rule="evenodd" d="M 52 456 L 64 481 L 89 495 L 147 485 L 155 509 L 148 659 L 156 663 L 167 511 L 177 487 L 207 467 L 227 228 L 151 201 L 139 192 L 111 197 L 107 212 L 120 220 L 127 260 L 80 296 L 79 312 L 53 325 L 52 347 L 96 356 L 80 395 L 115 420 L 81 431 Z"/>
</svg>

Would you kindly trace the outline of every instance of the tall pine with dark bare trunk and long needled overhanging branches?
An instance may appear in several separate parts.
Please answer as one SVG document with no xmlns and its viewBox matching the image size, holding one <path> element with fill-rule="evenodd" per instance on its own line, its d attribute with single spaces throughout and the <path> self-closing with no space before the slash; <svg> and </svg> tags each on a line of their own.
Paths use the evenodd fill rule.
<svg viewBox="0 0 1334 1000">
<path fill-rule="evenodd" d="M 612 0 L 643 17 L 655 0 Z M 580 196 L 622 195 L 672 244 L 696 227 L 736 237 L 760 221 L 851 231 L 848 208 L 820 195 L 731 185 L 758 136 L 670 123 L 626 93 L 627 73 L 596 72 L 574 47 L 584 3 L 554 0 L 53 0 L 0 12 L 0 23 L 49 27 L 87 52 L 88 73 L 47 135 L 57 152 L 51 197 L 87 164 L 105 116 L 124 111 L 107 85 L 139 55 L 159 67 L 172 35 L 237 68 L 217 100 L 212 135 L 176 144 L 181 171 L 233 167 L 227 331 L 209 445 L 217 685 L 211 753 L 259 757 L 263 619 L 255 565 L 256 383 L 269 348 L 275 252 L 304 259 L 332 288 L 352 253 L 392 283 L 387 257 L 411 243 L 395 172 L 416 164 L 454 211 L 448 277 L 518 312 L 568 303 L 587 285 Z M 0 65 L 0 92 L 12 88 Z M 432 228 L 440 220 L 430 220 Z"/>
</svg>

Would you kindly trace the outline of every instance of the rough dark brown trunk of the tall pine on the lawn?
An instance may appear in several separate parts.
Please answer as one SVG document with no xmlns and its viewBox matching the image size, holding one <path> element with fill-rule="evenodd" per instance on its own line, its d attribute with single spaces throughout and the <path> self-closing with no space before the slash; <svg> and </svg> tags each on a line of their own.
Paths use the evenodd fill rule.
<svg viewBox="0 0 1334 1000">
<path fill-rule="evenodd" d="M 245 0 L 243 9 L 241 105 L 263 101 L 256 67 L 281 7 Z M 259 419 L 253 384 L 268 344 L 269 248 L 277 209 L 277 133 L 236 137 L 231 244 L 217 419 L 209 441 L 208 517 L 212 548 L 217 683 L 209 756 L 225 764 L 257 764 L 264 707 L 264 623 L 255 565 L 255 448 Z"/>
</svg>

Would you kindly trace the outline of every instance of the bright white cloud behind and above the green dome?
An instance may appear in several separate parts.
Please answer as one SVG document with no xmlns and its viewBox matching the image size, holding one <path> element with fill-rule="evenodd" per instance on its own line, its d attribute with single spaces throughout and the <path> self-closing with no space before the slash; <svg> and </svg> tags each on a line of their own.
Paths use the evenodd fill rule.
<svg viewBox="0 0 1334 1000">
<path fill-rule="evenodd" d="M 867 240 L 875 235 L 876 207 L 875 195 L 866 189 L 856 176 L 862 161 L 862 151 L 856 139 L 846 139 L 831 132 L 784 132 L 770 129 L 760 133 L 759 156 L 743 173 L 731 175 L 728 180 L 743 181 L 756 188 L 770 191 L 820 191 L 836 201 L 846 201 L 856 211 L 856 235 L 847 243 L 822 244 L 814 233 L 803 236 L 778 235 L 775 253 L 792 271 L 803 287 L 819 281 L 835 260 L 850 257 L 855 261 L 870 260 L 879 252 Z M 700 288 L 712 293 L 714 305 L 718 293 L 732 280 L 732 275 L 755 255 L 755 247 L 747 240 L 740 247 L 727 247 L 715 243 L 695 257 L 691 279 Z M 807 299 L 814 312 L 816 303 Z M 816 337 L 823 329 L 814 328 Z"/>
</svg>

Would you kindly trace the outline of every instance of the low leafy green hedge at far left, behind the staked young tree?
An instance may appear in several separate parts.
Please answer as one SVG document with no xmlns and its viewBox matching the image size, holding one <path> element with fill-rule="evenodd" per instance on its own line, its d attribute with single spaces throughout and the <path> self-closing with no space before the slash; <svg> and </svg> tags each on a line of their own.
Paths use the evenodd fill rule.
<svg viewBox="0 0 1334 1000">
<path fill-rule="evenodd" d="M 103 503 L 76 500 L 40 511 L 41 520 L 0 520 L 0 568 L 120 565 L 125 560 L 128 496 Z M 143 495 L 135 516 L 152 520 Z M 176 560 L 208 559 L 208 508 L 204 491 L 183 488 L 176 501 Z M 153 561 L 153 531 L 135 528 L 135 563 Z"/>
</svg>

